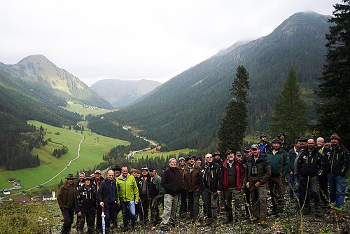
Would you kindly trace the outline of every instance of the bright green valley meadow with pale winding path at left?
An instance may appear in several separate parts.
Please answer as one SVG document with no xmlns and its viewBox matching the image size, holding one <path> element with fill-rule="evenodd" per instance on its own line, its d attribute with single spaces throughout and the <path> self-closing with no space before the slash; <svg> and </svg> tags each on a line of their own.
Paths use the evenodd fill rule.
<svg viewBox="0 0 350 234">
<path fill-rule="evenodd" d="M 48 142 L 48 145 L 41 149 L 33 150 L 32 153 L 34 155 L 38 154 L 40 158 L 41 165 L 39 167 L 15 171 L 0 171 L 0 188 L 11 187 L 10 183 L 7 181 L 9 178 L 20 180 L 23 190 L 48 181 L 48 179 L 51 179 L 55 174 L 64 169 L 70 160 L 78 156 L 78 145 L 82 139 L 80 135 L 85 137 L 80 145 L 80 158 L 74 160 L 62 174 L 45 186 L 58 184 L 68 173 L 76 174 L 76 171 L 83 168 L 88 169 L 94 167 L 94 165 L 101 163 L 102 156 L 115 146 L 130 144 L 130 142 L 104 137 L 90 131 L 83 131 L 83 133 L 80 133 L 73 130 L 56 128 L 38 121 L 28 121 L 28 124 L 35 125 L 37 128 L 42 125 L 47 132 L 45 134 L 45 139 L 51 138 L 52 142 Z M 59 135 L 56 135 L 56 132 L 59 132 Z M 53 149 L 61 149 L 62 145 L 68 147 L 68 153 L 61 158 L 52 156 Z"/>
</svg>

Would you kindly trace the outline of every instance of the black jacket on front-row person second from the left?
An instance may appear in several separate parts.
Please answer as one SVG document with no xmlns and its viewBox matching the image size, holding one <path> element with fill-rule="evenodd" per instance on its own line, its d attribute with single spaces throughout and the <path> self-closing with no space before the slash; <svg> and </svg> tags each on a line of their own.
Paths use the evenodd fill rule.
<svg viewBox="0 0 350 234">
<path fill-rule="evenodd" d="M 97 210 L 97 192 L 94 186 L 90 188 L 81 186 L 76 197 L 76 212 L 94 212 L 95 210 Z"/>
</svg>

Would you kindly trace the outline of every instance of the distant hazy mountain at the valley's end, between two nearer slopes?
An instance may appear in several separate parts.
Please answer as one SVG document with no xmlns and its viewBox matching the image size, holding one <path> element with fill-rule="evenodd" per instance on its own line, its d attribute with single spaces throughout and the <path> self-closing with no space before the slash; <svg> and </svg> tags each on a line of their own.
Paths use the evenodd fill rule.
<svg viewBox="0 0 350 234">
<path fill-rule="evenodd" d="M 162 83 L 157 81 L 121 81 L 106 79 L 97 81 L 90 86 L 94 92 L 109 101 L 114 107 L 127 106 L 157 88 Z"/>
</svg>

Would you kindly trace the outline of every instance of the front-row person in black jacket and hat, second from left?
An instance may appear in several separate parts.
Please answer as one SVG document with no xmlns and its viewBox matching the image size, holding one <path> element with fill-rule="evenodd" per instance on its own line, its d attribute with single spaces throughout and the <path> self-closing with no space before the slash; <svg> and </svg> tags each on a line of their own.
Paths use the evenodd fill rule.
<svg viewBox="0 0 350 234">
<path fill-rule="evenodd" d="M 97 192 L 92 186 L 92 179 L 85 177 L 84 185 L 78 189 L 76 197 L 76 212 L 80 217 L 78 233 L 83 232 L 85 219 L 87 224 L 87 234 L 94 233 L 94 216 L 97 212 Z"/>
</svg>

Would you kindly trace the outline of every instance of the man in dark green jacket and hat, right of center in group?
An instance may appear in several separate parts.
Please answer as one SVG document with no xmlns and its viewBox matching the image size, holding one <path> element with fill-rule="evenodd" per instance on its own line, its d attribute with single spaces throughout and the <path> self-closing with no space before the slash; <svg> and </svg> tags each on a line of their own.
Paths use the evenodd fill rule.
<svg viewBox="0 0 350 234">
<path fill-rule="evenodd" d="M 290 172 L 290 160 L 288 153 L 281 149 L 281 141 L 277 138 L 272 140 L 272 149 L 267 151 L 266 156 L 271 166 L 268 184 L 273 207 L 269 214 L 274 215 L 283 212 L 284 179 Z"/>
</svg>

